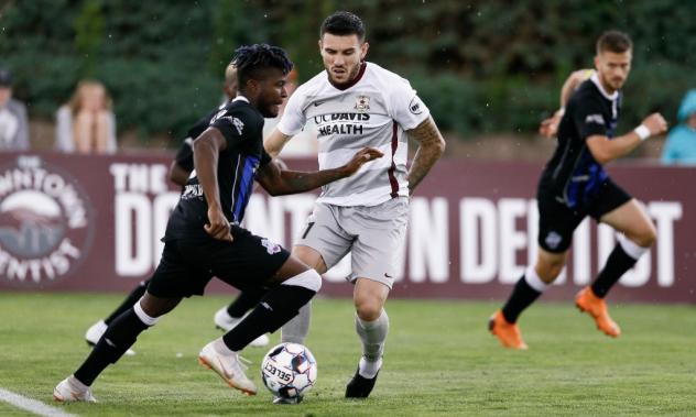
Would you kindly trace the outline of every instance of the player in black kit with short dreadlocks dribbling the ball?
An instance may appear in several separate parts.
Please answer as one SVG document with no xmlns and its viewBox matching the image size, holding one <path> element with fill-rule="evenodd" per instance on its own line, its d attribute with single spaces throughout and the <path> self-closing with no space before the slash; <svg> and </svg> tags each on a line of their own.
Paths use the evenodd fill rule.
<svg viewBox="0 0 696 417">
<path fill-rule="evenodd" d="M 306 191 L 350 176 L 382 154 L 363 149 L 338 168 L 281 171 L 263 150 L 263 118 L 276 116 L 287 96 L 292 63 L 283 50 L 269 45 L 240 47 L 235 63 L 239 95 L 194 141 L 195 174 L 172 212 L 162 260 L 145 295 L 109 325 L 85 362 L 58 383 L 56 400 L 95 402 L 90 385 L 97 376 L 184 297 L 203 295 L 213 276 L 241 289 L 269 288 L 237 327 L 206 344 L 198 356 L 228 385 L 253 395 L 257 387 L 238 352 L 260 334 L 278 330 L 319 289 L 322 278 L 314 270 L 239 226 L 252 183 L 255 178 L 271 195 Z"/>
</svg>

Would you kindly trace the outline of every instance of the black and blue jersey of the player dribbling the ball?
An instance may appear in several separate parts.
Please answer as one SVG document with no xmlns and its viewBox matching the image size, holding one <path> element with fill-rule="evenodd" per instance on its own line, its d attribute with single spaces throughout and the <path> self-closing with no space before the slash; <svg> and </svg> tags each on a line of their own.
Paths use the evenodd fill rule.
<svg viewBox="0 0 696 417">
<path fill-rule="evenodd" d="M 263 150 L 263 117 L 246 100 L 237 98 L 219 110 L 209 125 L 218 129 L 227 142 L 217 166 L 222 212 L 230 223 L 239 223 L 251 197 L 257 168 L 271 162 Z M 172 211 L 164 239 L 207 235 L 203 229 L 207 221 L 208 205 L 194 172 Z"/>
</svg>

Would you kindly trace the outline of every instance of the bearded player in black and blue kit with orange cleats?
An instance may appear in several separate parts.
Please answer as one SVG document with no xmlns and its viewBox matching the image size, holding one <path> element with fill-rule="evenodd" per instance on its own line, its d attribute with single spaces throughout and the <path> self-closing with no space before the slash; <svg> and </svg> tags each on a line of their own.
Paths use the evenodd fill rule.
<svg viewBox="0 0 696 417">
<path fill-rule="evenodd" d="M 526 349 L 516 325 L 520 314 L 554 282 L 566 263 L 573 231 L 586 216 L 620 232 L 605 267 L 575 298 L 602 332 L 621 333 L 609 317 L 605 296 L 655 241 L 645 209 L 615 184 L 603 165 L 633 151 L 645 139 L 666 131 L 659 113 L 615 136 L 621 109 L 621 87 L 631 69 L 628 35 L 609 31 L 597 41 L 596 73 L 568 101 L 558 127 L 558 147 L 546 164 L 537 188 L 539 255 L 514 286 L 510 298 L 489 320 L 489 330 L 507 348 Z"/>
</svg>

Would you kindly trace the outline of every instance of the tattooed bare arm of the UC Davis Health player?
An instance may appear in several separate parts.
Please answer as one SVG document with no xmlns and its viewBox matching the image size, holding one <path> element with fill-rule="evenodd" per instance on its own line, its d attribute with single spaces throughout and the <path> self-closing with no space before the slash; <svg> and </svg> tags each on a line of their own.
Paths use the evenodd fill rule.
<svg viewBox="0 0 696 417">
<path fill-rule="evenodd" d="M 409 169 L 409 191 L 413 194 L 415 187 L 425 178 L 425 175 L 445 152 L 445 140 L 432 117 L 406 133 L 409 138 L 418 142 L 418 150 Z"/>
</svg>

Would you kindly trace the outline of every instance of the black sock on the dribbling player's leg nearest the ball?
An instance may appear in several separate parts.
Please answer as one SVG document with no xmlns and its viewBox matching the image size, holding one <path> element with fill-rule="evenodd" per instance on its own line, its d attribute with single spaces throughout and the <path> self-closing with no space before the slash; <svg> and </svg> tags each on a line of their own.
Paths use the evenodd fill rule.
<svg viewBox="0 0 696 417">
<path fill-rule="evenodd" d="M 297 316 L 300 307 L 315 294 L 296 285 L 279 285 L 270 289 L 249 316 L 222 337 L 225 344 L 230 350 L 240 351 L 259 336 L 274 332 Z"/>
</svg>

